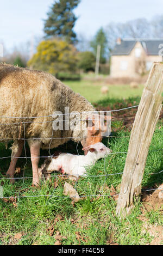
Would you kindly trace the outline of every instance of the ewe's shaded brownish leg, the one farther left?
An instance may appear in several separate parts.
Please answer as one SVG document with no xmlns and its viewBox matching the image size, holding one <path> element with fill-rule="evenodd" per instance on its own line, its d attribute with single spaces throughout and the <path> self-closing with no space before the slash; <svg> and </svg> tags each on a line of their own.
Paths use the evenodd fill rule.
<svg viewBox="0 0 163 256">
<path fill-rule="evenodd" d="M 15 157 L 20 157 L 21 156 L 23 146 L 24 146 L 24 141 L 21 140 L 21 141 L 17 142 L 17 150 L 14 151 L 12 149 L 11 157 L 13 157 L 13 156 L 14 157 L 11 159 L 10 166 L 9 166 L 9 169 L 8 169 L 6 175 L 9 178 L 13 178 L 13 179 L 10 179 L 10 182 L 13 183 L 13 184 L 15 183 L 14 172 L 15 172 L 15 166 L 16 166 L 16 163 L 17 163 L 17 158 L 15 158 Z"/>
</svg>

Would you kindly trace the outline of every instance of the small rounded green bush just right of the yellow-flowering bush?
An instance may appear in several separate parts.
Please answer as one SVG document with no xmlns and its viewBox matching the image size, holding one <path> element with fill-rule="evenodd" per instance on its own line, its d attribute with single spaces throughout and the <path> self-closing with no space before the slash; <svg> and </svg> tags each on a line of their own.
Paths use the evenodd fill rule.
<svg viewBox="0 0 163 256">
<path fill-rule="evenodd" d="M 92 52 L 80 52 L 79 53 L 79 62 L 78 67 L 79 69 L 83 69 L 83 71 L 94 71 L 95 70 L 95 62 L 96 58 Z"/>
</svg>

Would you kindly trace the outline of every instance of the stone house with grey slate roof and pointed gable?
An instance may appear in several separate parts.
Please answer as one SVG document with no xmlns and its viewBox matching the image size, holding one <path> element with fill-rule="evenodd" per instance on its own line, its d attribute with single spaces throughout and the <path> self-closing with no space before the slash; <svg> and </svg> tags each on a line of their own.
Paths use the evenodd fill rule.
<svg viewBox="0 0 163 256">
<path fill-rule="evenodd" d="M 159 55 L 163 39 L 125 39 L 118 38 L 111 52 L 111 77 L 139 77 L 146 74 L 153 62 L 161 62 Z"/>
</svg>

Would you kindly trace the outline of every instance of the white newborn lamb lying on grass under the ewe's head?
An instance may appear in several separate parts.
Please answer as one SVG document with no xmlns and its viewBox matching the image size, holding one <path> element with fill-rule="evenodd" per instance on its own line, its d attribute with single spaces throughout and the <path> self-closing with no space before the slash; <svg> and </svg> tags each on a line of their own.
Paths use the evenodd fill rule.
<svg viewBox="0 0 163 256">
<path fill-rule="evenodd" d="M 45 160 L 41 168 L 39 168 L 40 178 L 43 178 L 43 175 L 45 178 L 49 177 L 49 173 L 54 172 L 54 170 L 78 178 L 79 175 L 86 175 L 85 166 L 91 166 L 98 159 L 104 158 L 105 155 L 111 153 L 111 150 L 101 142 L 85 147 L 83 150 L 88 150 L 88 153 L 86 155 L 61 153 L 59 156 L 53 156 Z"/>
</svg>

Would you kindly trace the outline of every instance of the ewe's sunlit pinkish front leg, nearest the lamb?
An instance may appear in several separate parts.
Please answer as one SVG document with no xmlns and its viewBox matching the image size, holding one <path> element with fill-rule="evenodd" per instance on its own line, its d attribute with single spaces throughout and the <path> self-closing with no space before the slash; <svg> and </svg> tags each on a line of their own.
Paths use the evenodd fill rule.
<svg viewBox="0 0 163 256">
<path fill-rule="evenodd" d="M 29 144 L 30 147 L 30 157 L 32 162 L 32 172 L 33 172 L 33 182 L 34 186 L 40 185 L 39 180 L 39 172 L 38 172 L 38 164 L 39 164 L 39 156 L 40 156 L 40 143 L 35 142 Z"/>
</svg>

